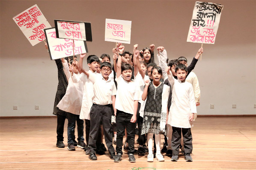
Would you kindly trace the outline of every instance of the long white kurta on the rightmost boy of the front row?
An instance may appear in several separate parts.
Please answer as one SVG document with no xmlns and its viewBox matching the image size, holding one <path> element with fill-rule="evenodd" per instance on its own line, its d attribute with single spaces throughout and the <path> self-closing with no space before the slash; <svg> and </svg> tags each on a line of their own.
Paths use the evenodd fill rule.
<svg viewBox="0 0 256 170">
<path fill-rule="evenodd" d="M 193 121 L 189 121 L 191 113 L 196 113 L 196 101 L 192 84 L 176 80 L 170 73 L 168 81 L 172 86 L 172 105 L 168 117 L 168 124 L 173 127 L 191 128 Z"/>
</svg>

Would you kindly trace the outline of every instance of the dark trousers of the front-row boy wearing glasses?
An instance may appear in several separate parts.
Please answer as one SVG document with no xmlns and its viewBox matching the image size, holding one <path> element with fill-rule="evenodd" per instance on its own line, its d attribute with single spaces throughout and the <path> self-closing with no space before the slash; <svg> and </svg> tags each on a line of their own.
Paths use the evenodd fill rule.
<svg viewBox="0 0 256 170">
<path fill-rule="evenodd" d="M 96 152 L 96 139 L 98 137 L 99 127 L 103 126 L 103 132 L 105 136 L 105 142 L 110 153 L 115 152 L 115 148 L 113 147 L 113 136 L 112 136 L 112 128 L 111 128 L 111 116 L 112 109 L 111 105 L 98 105 L 93 104 L 90 112 L 90 135 L 89 135 L 89 152 Z"/>
</svg>

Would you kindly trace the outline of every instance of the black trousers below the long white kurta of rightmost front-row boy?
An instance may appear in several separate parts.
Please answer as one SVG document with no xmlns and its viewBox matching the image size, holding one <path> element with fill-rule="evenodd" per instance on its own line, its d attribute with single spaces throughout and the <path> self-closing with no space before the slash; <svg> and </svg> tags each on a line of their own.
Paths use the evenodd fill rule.
<svg viewBox="0 0 256 170">
<path fill-rule="evenodd" d="M 192 145 L 192 134 L 191 128 L 179 128 L 173 127 L 173 135 L 172 135 L 172 150 L 174 155 L 179 154 L 179 146 L 181 143 L 181 137 L 183 135 L 184 142 L 184 152 L 192 153 L 193 145 Z"/>
</svg>

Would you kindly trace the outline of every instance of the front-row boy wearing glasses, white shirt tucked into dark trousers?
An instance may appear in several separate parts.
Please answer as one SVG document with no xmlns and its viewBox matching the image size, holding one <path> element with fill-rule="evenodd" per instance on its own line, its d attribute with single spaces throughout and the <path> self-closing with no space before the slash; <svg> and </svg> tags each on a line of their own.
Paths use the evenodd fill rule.
<svg viewBox="0 0 256 170">
<path fill-rule="evenodd" d="M 114 81 L 109 78 L 111 73 L 111 64 L 104 61 L 101 63 L 101 74 L 93 74 L 92 72 L 84 72 L 90 81 L 93 83 L 94 97 L 92 99 L 92 108 L 90 112 L 90 135 L 89 135 L 89 158 L 91 160 L 97 160 L 95 155 L 96 151 L 96 139 L 98 137 L 98 127 L 100 126 L 101 120 L 104 130 L 105 141 L 109 151 L 111 159 L 114 159 L 115 149 L 112 145 L 112 130 L 111 130 L 111 115 L 112 107 L 115 105 L 116 86 Z"/>
</svg>

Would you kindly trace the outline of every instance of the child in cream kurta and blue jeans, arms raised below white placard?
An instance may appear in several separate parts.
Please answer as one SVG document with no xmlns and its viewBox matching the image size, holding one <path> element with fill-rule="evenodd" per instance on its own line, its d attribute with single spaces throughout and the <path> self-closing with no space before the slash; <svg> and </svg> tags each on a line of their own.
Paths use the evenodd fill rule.
<svg viewBox="0 0 256 170">
<path fill-rule="evenodd" d="M 83 142 L 83 120 L 79 118 L 80 109 L 82 105 L 82 97 L 83 97 L 83 82 L 77 77 L 78 69 L 77 61 L 71 60 L 71 66 L 68 70 L 68 62 L 61 59 L 64 67 L 64 72 L 68 80 L 68 87 L 65 95 L 62 100 L 59 102 L 57 107 L 65 112 L 68 112 L 68 150 L 75 150 L 74 147 L 74 128 L 75 122 L 77 122 L 77 135 L 78 135 L 78 145 L 84 149 L 86 144 Z M 69 71 L 72 71 L 72 75 Z"/>
</svg>

